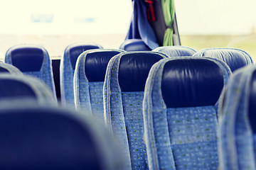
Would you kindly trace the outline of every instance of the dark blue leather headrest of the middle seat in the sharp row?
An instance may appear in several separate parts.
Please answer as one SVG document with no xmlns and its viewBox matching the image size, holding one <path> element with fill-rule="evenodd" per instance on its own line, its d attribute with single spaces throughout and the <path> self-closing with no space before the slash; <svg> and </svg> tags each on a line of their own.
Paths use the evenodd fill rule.
<svg viewBox="0 0 256 170">
<path fill-rule="evenodd" d="M 152 65 L 163 59 L 154 53 L 131 53 L 121 57 L 119 86 L 121 91 L 144 91 Z"/>
</svg>

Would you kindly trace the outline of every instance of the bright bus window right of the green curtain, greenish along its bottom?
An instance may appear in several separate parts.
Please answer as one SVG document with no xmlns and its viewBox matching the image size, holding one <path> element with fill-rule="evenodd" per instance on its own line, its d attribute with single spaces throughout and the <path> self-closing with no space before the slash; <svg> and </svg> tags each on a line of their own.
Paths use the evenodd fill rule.
<svg viewBox="0 0 256 170">
<path fill-rule="evenodd" d="M 236 47 L 256 61 L 255 0 L 175 1 L 181 45 Z"/>
</svg>

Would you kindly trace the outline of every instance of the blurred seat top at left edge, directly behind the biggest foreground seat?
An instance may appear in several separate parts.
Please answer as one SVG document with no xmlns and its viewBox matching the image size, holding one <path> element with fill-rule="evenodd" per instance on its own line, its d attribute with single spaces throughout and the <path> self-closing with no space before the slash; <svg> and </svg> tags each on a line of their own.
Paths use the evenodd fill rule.
<svg viewBox="0 0 256 170">
<path fill-rule="evenodd" d="M 23 101 L 30 99 L 38 103 L 57 106 L 55 96 L 43 81 L 21 74 L 0 74 L 0 101 Z"/>
</svg>

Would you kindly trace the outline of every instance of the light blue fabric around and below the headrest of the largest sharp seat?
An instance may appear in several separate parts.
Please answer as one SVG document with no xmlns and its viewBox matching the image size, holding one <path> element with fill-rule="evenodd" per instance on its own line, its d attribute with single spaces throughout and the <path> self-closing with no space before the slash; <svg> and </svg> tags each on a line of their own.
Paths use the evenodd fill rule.
<svg viewBox="0 0 256 170">
<path fill-rule="evenodd" d="M 181 58 L 184 57 L 154 64 L 146 81 L 143 114 L 149 169 L 217 169 L 218 102 L 214 106 L 166 108 L 162 98 L 164 65 Z M 215 59 L 210 61 L 218 64 L 224 86 L 228 84 L 231 71 L 227 64 Z"/>
</svg>

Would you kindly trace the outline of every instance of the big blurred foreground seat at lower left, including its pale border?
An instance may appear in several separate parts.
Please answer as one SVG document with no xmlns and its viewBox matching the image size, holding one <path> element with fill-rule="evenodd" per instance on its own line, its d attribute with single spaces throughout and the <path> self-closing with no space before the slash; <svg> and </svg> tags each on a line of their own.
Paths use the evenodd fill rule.
<svg viewBox="0 0 256 170">
<path fill-rule="evenodd" d="M 1 169 L 122 170 L 111 133 L 88 115 L 36 103 L 0 105 Z"/>
</svg>

